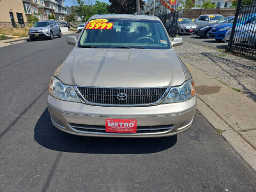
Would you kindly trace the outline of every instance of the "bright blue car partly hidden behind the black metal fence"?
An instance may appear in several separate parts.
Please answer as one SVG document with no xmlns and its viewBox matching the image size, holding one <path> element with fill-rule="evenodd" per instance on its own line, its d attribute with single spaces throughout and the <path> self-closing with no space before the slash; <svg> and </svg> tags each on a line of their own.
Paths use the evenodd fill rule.
<svg viewBox="0 0 256 192">
<path fill-rule="evenodd" d="M 255 19 L 255 16 L 255 13 L 243 15 L 243 17 L 238 18 L 237 26 L 252 22 L 252 20 Z M 225 34 L 227 33 L 228 29 L 232 28 L 233 21 L 234 19 L 228 23 L 222 23 L 221 25 L 212 27 L 207 33 L 207 37 L 214 38 L 216 41 L 221 42 L 225 38 Z"/>
</svg>

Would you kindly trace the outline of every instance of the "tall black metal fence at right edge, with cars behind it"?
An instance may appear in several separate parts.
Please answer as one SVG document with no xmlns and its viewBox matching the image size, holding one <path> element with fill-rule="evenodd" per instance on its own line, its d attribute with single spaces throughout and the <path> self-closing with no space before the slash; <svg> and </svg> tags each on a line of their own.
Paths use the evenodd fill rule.
<svg viewBox="0 0 256 192">
<path fill-rule="evenodd" d="M 228 30 L 226 40 L 229 52 L 256 60 L 256 0 L 238 0 L 233 27 Z"/>
</svg>

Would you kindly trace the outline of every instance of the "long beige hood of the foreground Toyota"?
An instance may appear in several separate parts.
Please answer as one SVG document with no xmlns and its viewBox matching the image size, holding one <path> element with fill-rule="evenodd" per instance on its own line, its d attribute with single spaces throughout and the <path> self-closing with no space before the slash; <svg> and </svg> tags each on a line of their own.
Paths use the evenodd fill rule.
<svg viewBox="0 0 256 192">
<path fill-rule="evenodd" d="M 185 73 L 173 49 L 75 47 L 57 77 L 69 85 L 161 87 L 181 85 Z M 56 75 L 57 73 L 55 73 Z"/>
</svg>

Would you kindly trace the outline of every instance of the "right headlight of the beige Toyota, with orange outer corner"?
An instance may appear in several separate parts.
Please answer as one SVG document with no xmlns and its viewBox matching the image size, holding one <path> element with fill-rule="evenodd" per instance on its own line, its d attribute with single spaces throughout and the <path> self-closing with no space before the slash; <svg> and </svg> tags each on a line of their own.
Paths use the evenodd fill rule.
<svg viewBox="0 0 256 192">
<path fill-rule="evenodd" d="M 189 79 L 179 87 L 172 87 L 163 103 L 183 102 L 195 95 L 195 83 Z"/>
</svg>

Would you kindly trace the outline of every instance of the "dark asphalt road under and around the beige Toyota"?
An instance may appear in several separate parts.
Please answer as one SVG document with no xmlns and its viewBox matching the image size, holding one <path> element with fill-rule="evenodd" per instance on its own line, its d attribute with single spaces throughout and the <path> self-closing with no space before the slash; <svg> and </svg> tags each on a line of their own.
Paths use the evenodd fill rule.
<svg viewBox="0 0 256 192">
<path fill-rule="evenodd" d="M 0 48 L 0 191 L 256 191 L 256 173 L 199 113 L 169 138 L 56 129 L 47 86 L 73 49 L 66 38 Z"/>
</svg>

